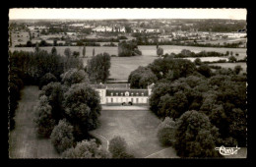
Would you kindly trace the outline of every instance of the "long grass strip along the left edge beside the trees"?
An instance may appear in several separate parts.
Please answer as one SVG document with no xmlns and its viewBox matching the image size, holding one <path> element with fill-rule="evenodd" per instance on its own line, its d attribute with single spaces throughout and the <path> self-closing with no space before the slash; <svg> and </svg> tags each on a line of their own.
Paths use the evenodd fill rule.
<svg viewBox="0 0 256 167">
<path fill-rule="evenodd" d="M 26 86 L 16 110 L 16 128 L 9 134 L 10 158 L 58 158 L 49 139 L 39 139 L 33 123 L 33 112 L 38 98 L 37 86 Z"/>
</svg>

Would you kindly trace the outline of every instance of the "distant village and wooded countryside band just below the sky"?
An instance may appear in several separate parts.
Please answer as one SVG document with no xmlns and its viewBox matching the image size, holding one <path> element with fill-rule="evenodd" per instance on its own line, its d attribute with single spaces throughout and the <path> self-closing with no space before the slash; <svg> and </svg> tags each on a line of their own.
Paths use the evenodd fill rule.
<svg viewBox="0 0 256 167">
<path fill-rule="evenodd" d="M 192 22 L 192 23 L 191 23 Z M 38 22 L 15 22 L 12 24 L 12 32 L 19 33 L 21 31 L 29 32 L 30 39 L 33 41 L 52 40 L 57 39 L 58 43 L 64 44 L 67 39 L 72 40 L 73 44 L 81 39 L 96 39 L 96 38 L 112 38 L 116 39 L 118 36 L 126 36 L 124 39 L 135 39 L 140 34 L 146 34 L 149 41 L 179 41 L 184 42 L 215 42 L 224 39 L 234 39 L 232 42 L 240 42 L 240 47 L 245 47 L 247 40 L 240 40 L 246 38 L 246 29 L 232 28 L 232 25 L 242 25 L 231 21 L 214 23 L 230 27 L 230 31 L 221 29 L 217 31 L 218 27 L 204 28 L 200 25 L 202 21 L 161 21 L 161 20 L 139 20 L 139 21 L 38 21 Z M 212 25 L 214 25 L 212 23 Z M 23 26 L 21 28 L 21 26 Z M 237 27 L 236 27 L 237 28 Z M 15 40 L 15 39 L 14 39 Z M 19 40 L 19 39 L 18 39 Z M 17 43 L 18 40 L 16 41 Z M 20 42 L 27 42 L 21 41 Z M 242 41 L 242 42 L 241 42 Z M 223 42 L 224 43 L 224 42 Z M 222 41 L 221 41 L 222 44 Z"/>
</svg>

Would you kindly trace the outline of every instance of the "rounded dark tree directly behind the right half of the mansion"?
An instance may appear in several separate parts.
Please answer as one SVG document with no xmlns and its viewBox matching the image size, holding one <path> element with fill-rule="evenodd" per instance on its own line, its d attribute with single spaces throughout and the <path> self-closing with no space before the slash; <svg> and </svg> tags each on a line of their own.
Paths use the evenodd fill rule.
<svg viewBox="0 0 256 167">
<path fill-rule="evenodd" d="M 156 83 L 157 80 L 150 68 L 139 66 L 129 75 L 128 83 L 130 83 L 131 88 L 147 88 L 148 85 Z"/>
</svg>

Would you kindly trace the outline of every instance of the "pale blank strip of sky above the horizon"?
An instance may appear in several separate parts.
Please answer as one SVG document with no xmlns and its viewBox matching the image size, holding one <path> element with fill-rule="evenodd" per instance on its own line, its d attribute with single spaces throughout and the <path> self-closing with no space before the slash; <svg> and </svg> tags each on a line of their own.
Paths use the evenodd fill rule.
<svg viewBox="0 0 256 167">
<path fill-rule="evenodd" d="M 9 19 L 231 19 L 246 20 L 246 9 L 47 9 L 14 8 Z"/>
</svg>

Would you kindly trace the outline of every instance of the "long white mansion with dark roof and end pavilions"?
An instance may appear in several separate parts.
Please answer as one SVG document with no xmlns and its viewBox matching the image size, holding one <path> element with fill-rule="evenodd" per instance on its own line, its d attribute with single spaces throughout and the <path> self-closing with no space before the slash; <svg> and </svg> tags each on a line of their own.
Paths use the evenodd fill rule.
<svg viewBox="0 0 256 167">
<path fill-rule="evenodd" d="M 149 97 L 152 94 L 154 83 L 147 89 L 130 88 L 107 88 L 106 85 L 95 85 L 96 91 L 100 97 L 100 104 L 121 104 L 123 102 L 132 102 L 133 104 L 148 104 Z"/>
</svg>

